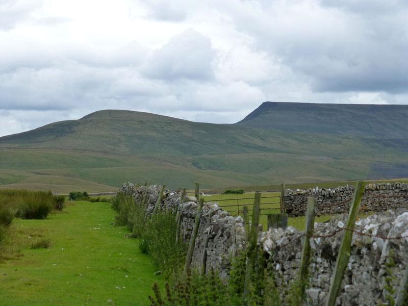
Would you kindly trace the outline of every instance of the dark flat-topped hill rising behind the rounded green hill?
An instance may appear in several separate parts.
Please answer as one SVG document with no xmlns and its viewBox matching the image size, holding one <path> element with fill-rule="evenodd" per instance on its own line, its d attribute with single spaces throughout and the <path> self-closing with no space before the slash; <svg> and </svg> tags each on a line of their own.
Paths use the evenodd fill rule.
<svg viewBox="0 0 408 306">
<path fill-rule="evenodd" d="M 238 125 L 287 132 L 408 138 L 408 105 L 264 102 Z"/>
</svg>

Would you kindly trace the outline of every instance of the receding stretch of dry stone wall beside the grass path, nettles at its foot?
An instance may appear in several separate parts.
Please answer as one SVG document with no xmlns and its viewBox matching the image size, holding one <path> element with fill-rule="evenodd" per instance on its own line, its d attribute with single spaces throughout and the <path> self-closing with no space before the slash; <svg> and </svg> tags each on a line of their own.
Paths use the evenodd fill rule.
<svg viewBox="0 0 408 306">
<path fill-rule="evenodd" d="M 157 204 L 161 186 L 141 186 L 136 188 L 133 184 L 124 184 L 121 191 L 132 194 L 136 200 L 143 200 L 147 195 L 147 215 L 150 215 Z M 187 242 L 190 240 L 197 214 L 197 199 L 186 196 L 180 201 L 182 190 L 164 190 L 159 209 L 161 211 L 176 212 L 182 214 L 181 236 Z M 209 215 L 211 214 L 211 220 Z M 200 267 L 202 264 L 205 242 L 207 245 L 207 269 L 214 268 L 220 272 L 224 279 L 228 277 L 228 267 L 231 260 L 245 247 L 245 228 L 241 217 L 233 217 L 225 210 L 218 207 L 217 203 L 205 203 L 200 212 L 200 226 L 193 251 L 192 265 Z M 211 224 L 211 225 L 210 225 Z"/>
</svg>

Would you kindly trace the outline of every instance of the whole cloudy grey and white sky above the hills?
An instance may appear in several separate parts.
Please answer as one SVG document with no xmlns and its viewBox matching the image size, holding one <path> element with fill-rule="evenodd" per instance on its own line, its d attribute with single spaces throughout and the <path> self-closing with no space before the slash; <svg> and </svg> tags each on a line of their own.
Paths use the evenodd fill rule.
<svg viewBox="0 0 408 306">
<path fill-rule="evenodd" d="M 104 109 L 408 104 L 405 0 L 0 0 L 0 136 Z"/>
</svg>

